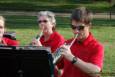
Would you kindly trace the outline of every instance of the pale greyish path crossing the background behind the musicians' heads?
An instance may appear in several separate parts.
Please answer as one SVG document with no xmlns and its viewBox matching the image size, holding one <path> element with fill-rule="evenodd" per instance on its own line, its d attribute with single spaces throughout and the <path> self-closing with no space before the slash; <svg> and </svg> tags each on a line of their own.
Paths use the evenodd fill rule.
<svg viewBox="0 0 115 77">
<path fill-rule="evenodd" d="M 18 12 L 18 11 L 0 11 L 0 15 L 25 15 L 25 16 L 37 16 L 38 12 Z M 69 13 L 56 13 L 56 16 L 69 17 Z M 110 13 L 94 13 L 93 18 L 105 18 L 115 19 L 115 14 L 110 16 Z"/>
</svg>

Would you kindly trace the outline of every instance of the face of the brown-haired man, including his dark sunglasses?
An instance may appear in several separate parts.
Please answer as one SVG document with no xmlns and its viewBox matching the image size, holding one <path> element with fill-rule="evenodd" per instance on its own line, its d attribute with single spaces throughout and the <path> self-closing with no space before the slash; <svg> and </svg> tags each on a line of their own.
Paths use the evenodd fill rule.
<svg viewBox="0 0 115 77">
<path fill-rule="evenodd" d="M 84 40 L 89 35 L 89 26 L 85 25 L 84 23 L 72 20 L 71 28 L 74 34 L 78 33 L 78 40 Z"/>
</svg>

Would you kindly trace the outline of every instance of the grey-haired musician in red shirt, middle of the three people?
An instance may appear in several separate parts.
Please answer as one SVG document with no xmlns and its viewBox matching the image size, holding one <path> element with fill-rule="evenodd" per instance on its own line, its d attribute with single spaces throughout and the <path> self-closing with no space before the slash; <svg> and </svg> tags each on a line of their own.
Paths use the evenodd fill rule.
<svg viewBox="0 0 115 77">
<path fill-rule="evenodd" d="M 56 19 L 55 14 L 51 11 L 40 11 L 37 15 L 38 25 L 42 32 L 41 37 L 34 39 L 32 45 L 50 47 L 51 53 L 55 53 L 56 49 L 64 44 L 64 37 L 56 31 Z M 55 77 L 58 76 L 58 72 L 55 69 Z"/>
</svg>

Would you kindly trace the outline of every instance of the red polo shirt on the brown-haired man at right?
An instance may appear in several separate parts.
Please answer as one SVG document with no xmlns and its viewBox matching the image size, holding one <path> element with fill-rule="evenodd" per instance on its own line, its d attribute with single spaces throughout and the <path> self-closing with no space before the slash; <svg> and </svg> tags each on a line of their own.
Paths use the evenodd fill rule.
<svg viewBox="0 0 115 77">
<path fill-rule="evenodd" d="M 68 40 L 67 43 L 71 42 Z M 103 46 L 97 42 L 91 35 L 88 36 L 82 43 L 77 40 L 71 46 L 72 53 L 81 60 L 93 63 L 102 69 L 104 49 Z M 79 68 L 71 64 L 71 62 L 64 59 L 64 72 L 62 77 L 90 77 L 88 74 L 81 71 Z"/>
</svg>

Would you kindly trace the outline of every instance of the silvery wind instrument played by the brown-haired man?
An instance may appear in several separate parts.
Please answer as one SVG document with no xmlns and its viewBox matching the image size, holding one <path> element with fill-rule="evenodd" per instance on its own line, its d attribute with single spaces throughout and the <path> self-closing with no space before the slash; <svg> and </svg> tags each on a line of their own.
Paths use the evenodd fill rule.
<svg viewBox="0 0 115 77">
<path fill-rule="evenodd" d="M 64 43 L 64 45 L 69 45 L 69 47 L 71 47 L 73 45 L 73 43 L 75 42 L 77 36 L 78 36 L 78 34 L 75 35 L 73 41 L 70 44 Z M 61 48 L 57 48 L 57 50 L 53 54 L 53 64 L 54 65 L 56 65 L 61 60 L 61 58 L 62 58 L 61 52 L 62 52 Z"/>
</svg>

